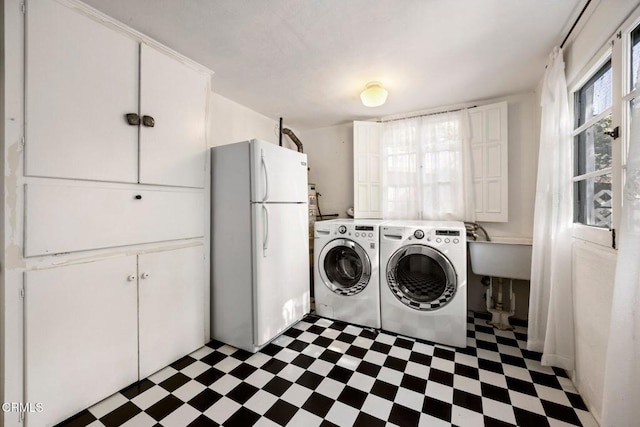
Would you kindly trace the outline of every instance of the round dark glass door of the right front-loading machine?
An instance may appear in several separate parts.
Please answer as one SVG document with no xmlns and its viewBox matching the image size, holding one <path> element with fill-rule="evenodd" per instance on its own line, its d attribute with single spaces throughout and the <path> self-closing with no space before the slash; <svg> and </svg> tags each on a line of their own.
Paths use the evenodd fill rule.
<svg viewBox="0 0 640 427">
<path fill-rule="evenodd" d="M 407 307 L 432 311 L 453 299 L 457 276 L 442 252 L 429 246 L 409 245 L 398 249 L 389 259 L 387 284 Z"/>
</svg>

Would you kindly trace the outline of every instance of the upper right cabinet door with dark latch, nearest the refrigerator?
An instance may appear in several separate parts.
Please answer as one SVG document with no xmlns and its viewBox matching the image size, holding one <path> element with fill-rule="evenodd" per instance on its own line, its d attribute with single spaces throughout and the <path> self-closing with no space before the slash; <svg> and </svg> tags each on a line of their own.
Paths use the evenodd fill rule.
<svg viewBox="0 0 640 427">
<path fill-rule="evenodd" d="M 141 46 L 140 183 L 204 187 L 209 76 Z"/>
</svg>

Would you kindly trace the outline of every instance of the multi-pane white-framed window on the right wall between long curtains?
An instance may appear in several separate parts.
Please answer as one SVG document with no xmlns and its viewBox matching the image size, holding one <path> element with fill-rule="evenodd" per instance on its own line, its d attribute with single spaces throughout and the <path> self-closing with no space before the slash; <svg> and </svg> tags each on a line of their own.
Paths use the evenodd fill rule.
<svg viewBox="0 0 640 427">
<path fill-rule="evenodd" d="M 640 19 L 612 40 L 571 94 L 574 236 L 615 247 L 631 110 L 640 94 Z"/>
</svg>

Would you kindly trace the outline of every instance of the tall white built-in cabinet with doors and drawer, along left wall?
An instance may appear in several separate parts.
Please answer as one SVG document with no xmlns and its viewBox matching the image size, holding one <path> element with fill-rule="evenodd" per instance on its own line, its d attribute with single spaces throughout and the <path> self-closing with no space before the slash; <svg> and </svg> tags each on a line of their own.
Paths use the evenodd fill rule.
<svg viewBox="0 0 640 427">
<path fill-rule="evenodd" d="M 9 191 L 34 427 L 204 345 L 210 72 L 80 1 L 25 6 L 25 176 Z"/>
</svg>

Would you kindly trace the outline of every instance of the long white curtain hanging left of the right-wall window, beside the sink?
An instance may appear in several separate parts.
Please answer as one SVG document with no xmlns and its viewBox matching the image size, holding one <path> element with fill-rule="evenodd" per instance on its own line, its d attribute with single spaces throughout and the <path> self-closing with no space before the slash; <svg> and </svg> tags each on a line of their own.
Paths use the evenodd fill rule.
<svg viewBox="0 0 640 427">
<path fill-rule="evenodd" d="M 541 98 L 527 348 L 542 352 L 543 365 L 573 370 L 571 120 L 562 50 L 557 47 Z"/>
</svg>

